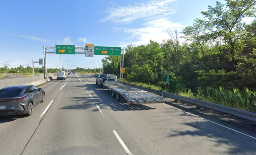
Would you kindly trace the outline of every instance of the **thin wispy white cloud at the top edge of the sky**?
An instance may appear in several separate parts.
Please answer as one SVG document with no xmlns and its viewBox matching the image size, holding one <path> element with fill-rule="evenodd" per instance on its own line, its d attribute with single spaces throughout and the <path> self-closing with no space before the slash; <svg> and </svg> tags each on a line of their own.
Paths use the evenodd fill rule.
<svg viewBox="0 0 256 155">
<path fill-rule="evenodd" d="M 130 23 L 136 19 L 171 14 L 174 13 L 171 7 L 173 1 L 175 0 L 151 0 L 135 5 L 114 6 L 106 10 L 108 15 L 101 22 Z"/>
</svg>

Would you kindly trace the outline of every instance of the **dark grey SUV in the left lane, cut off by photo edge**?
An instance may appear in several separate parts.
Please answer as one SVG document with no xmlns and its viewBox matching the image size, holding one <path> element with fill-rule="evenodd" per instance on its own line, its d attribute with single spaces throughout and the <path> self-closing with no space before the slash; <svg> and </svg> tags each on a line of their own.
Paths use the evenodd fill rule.
<svg viewBox="0 0 256 155">
<path fill-rule="evenodd" d="M 15 85 L 0 89 L 0 115 L 32 115 L 34 106 L 43 102 L 45 92 L 34 85 Z"/>
</svg>

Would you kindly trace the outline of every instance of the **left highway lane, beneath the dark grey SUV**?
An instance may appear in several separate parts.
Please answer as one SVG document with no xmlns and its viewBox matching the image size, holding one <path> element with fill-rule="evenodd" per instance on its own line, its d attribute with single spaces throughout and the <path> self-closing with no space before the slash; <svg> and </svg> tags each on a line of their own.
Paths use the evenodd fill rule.
<svg viewBox="0 0 256 155">
<path fill-rule="evenodd" d="M 29 117 L 22 115 L 0 117 L 0 154 L 20 154 L 36 127 L 38 126 L 47 105 L 59 93 L 64 80 L 53 80 L 42 87 L 45 90 L 45 101 L 34 107 L 33 114 Z"/>
</svg>

